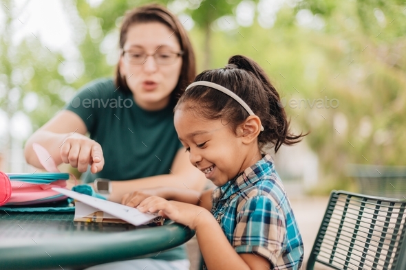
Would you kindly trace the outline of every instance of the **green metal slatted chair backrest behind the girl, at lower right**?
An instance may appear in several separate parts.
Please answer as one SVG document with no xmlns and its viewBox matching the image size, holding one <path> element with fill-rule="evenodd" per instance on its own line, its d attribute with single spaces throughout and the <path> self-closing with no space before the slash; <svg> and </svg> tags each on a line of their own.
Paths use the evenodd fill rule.
<svg viewBox="0 0 406 270">
<path fill-rule="evenodd" d="M 306 269 L 405 270 L 406 201 L 333 190 Z"/>
</svg>

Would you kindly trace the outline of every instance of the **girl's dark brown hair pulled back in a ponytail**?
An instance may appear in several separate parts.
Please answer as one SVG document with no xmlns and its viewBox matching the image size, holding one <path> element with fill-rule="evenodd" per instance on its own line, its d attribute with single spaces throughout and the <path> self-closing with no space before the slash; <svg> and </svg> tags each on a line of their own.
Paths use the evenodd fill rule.
<svg viewBox="0 0 406 270">
<path fill-rule="evenodd" d="M 301 137 L 307 135 L 290 133 L 285 110 L 280 106 L 279 94 L 265 71 L 246 56 L 232 56 L 226 67 L 203 71 L 195 78 L 195 82 L 197 81 L 222 85 L 236 93 L 250 106 L 264 126 L 264 131 L 258 135 L 259 148 L 273 144 L 276 153 L 282 144 L 296 144 L 301 141 Z M 175 106 L 175 110 L 180 106 L 182 109 L 192 109 L 197 115 L 209 120 L 221 119 L 231 125 L 235 134 L 237 126 L 249 116 L 244 107 L 233 98 L 205 86 L 195 86 L 186 91 Z"/>
</svg>

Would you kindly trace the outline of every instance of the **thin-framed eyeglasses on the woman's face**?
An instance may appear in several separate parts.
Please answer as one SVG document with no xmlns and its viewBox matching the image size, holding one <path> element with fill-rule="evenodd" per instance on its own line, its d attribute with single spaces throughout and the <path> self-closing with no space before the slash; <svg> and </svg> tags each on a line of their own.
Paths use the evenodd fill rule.
<svg viewBox="0 0 406 270">
<path fill-rule="evenodd" d="M 156 52 L 154 54 L 146 54 L 145 52 L 123 51 L 122 55 L 127 63 L 131 65 L 143 65 L 147 61 L 148 56 L 152 56 L 158 65 L 172 65 L 175 60 L 183 55 L 183 52 Z"/>
</svg>

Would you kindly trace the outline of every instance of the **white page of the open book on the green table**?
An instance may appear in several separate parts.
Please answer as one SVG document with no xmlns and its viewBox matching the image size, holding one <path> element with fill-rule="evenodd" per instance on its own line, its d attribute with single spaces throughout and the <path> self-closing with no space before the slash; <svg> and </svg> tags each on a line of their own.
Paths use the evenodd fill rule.
<svg viewBox="0 0 406 270">
<path fill-rule="evenodd" d="M 76 212 L 79 216 L 86 216 L 87 214 L 92 214 L 93 212 L 100 210 L 107 214 L 110 214 L 111 216 L 120 218 L 123 221 L 127 221 L 128 223 L 131 223 L 135 226 L 148 223 L 153 218 L 156 218 L 158 216 L 157 214 L 142 213 L 133 207 L 128 207 L 120 203 L 114 203 L 112 201 L 98 199 L 93 196 L 81 194 L 72 190 L 66 190 L 64 188 L 52 188 L 52 190 L 65 194 L 66 196 L 69 196 L 70 198 L 73 198 L 77 201 L 81 201 L 82 203 L 85 203 L 89 206 L 83 207 L 82 204 L 80 204 L 82 206 L 78 205 L 79 207 L 76 207 L 75 210 L 75 216 Z"/>
</svg>

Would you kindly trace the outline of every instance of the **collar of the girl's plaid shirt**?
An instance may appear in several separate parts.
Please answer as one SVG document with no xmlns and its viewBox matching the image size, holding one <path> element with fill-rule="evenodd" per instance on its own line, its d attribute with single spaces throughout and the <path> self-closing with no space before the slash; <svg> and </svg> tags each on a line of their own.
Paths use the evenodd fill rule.
<svg viewBox="0 0 406 270">
<path fill-rule="evenodd" d="M 273 172 L 273 159 L 270 155 L 265 155 L 261 160 L 257 161 L 253 166 L 246 168 L 242 173 L 239 173 L 235 179 L 228 181 L 226 184 L 213 191 L 213 204 L 217 201 L 228 199 L 231 195 L 243 190 L 244 188 L 253 185 L 259 181 L 264 175 L 269 175 Z"/>
</svg>

